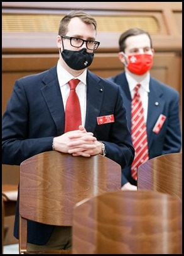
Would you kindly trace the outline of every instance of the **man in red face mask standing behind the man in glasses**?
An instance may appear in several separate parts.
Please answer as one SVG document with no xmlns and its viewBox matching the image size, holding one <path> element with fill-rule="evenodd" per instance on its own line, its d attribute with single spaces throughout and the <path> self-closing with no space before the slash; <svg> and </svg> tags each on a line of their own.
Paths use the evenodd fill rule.
<svg viewBox="0 0 184 256">
<path fill-rule="evenodd" d="M 141 84 L 139 95 L 144 108 L 149 159 L 161 154 L 177 153 L 181 149 L 179 93 L 150 76 L 153 55 L 149 33 L 131 28 L 119 38 L 118 56 L 124 64 L 124 72 L 107 78 L 121 88 L 130 131 L 131 100 L 136 84 Z M 137 181 L 131 176 L 131 168 L 124 168 L 122 190 L 136 190 L 136 185 Z"/>
</svg>

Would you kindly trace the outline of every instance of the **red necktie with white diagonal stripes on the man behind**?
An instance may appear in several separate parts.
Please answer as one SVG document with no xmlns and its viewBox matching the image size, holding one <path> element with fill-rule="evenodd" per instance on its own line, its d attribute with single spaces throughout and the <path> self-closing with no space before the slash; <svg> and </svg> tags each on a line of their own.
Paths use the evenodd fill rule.
<svg viewBox="0 0 184 256">
<path fill-rule="evenodd" d="M 149 159 L 144 110 L 138 93 L 140 86 L 141 84 L 137 84 L 134 88 L 135 94 L 131 105 L 131 136 L 135 149 L 135 157 L 131 165 L 131 175 L 134 180 L 137 180 L 138 166 Z"/>
</svg>

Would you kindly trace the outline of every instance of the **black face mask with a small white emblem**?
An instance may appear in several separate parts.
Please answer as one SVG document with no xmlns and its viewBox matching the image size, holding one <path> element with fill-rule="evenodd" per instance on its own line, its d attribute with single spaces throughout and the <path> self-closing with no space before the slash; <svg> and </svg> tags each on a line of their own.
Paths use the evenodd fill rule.
<svg viewBox="0 0 184 256">
<path fill-rule="evenodd" d="M 85 67 L 89 67 L 94 59 L 94 52 L 90 54 L 85 48 L 81 50 L 63 50 L 61 54 L 67 65 L 71 67 L 71 69 L 75 70 L 81 70 L 85 69 Z"/>
</svg>

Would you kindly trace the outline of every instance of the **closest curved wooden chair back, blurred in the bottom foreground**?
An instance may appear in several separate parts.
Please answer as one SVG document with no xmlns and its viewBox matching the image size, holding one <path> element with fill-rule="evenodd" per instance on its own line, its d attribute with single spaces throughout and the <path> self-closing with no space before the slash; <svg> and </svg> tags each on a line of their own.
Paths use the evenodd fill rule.
<svg viewBox="0 0 184 256">
<path fill-rule="evenodd" d="M 151 191 L 116 191 L 79 202 L 73 254 L 182 252 L 182 203 Z"/>
</svg>

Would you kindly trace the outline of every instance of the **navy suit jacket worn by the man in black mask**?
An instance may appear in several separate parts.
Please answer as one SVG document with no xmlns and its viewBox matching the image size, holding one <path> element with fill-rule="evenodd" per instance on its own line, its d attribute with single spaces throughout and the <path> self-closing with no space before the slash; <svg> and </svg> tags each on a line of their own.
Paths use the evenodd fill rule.
<svg viewBox="0 0 184 256">
<path fill-rule="evenodd" d="M 87 71 L 85 129 L 106 144 L 106 156 L 122 168 L 131 165 L 134 148 L 127 128 L 119 86 Z M 114 122 L 97 124 L 97 117 L 114 115 Z M 3 115 L 3 164 L 20 165 L 31 156 L 52 150 L 53 137 L 65 129 L 65 110 L 57 77 L 57 66 L 15 82 Z M 18 204 L 14 236 L 18 238 Z M 53 226 L 28 224 L 28 242 L 43 245 Z"/>
</svg>

